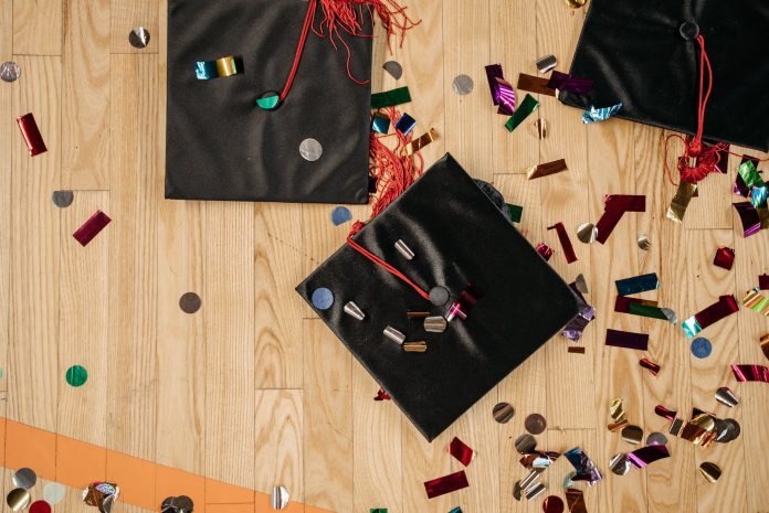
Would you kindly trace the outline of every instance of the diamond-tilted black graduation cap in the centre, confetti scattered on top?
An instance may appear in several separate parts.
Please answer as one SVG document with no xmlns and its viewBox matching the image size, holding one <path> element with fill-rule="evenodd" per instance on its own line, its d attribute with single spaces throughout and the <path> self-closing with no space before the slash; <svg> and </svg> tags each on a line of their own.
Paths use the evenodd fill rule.
<svg viewBox="0 0 769 513">
<path fill-rule="evenodd" d="M 449 292 L 433 304 L 349 243 L 296 288 L 428 440 L 577 314 L 569 287 L 450 154 L 352 242 L 429 296 Z M 362 320 L 345 312 L 349 301 Z M 455 304 L 442 333 L 407 316 L 451 318 Z M 388 327 L 426 351 L 405 352 Z"/>
</svg>

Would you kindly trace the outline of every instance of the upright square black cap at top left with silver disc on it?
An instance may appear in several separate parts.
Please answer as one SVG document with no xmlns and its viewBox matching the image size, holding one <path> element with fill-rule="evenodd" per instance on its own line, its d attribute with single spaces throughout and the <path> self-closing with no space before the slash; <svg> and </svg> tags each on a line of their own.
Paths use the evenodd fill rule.
<svg viewBox="0 0 769 513">
<path fill-rule="evenodd" d="M 166 197 L 317 203 L 368 201 L 370 84 L 347 76 L 347 51 L 312 31 L 283 105 L 254 101 L 280 93 L 294 61 L 305 0 L 169 0 Z M 371 33 L 366 11 L 365 33 Z M 318 6 L 316 26 L 323 19 Z M 371 76 L 371 38 L 344 33 L 350 71 Z M 241 73 L 198 81 L 197 61 L 242 56 Z M 314 138 L 319 160 L 299 154 Z"/>
</svg>

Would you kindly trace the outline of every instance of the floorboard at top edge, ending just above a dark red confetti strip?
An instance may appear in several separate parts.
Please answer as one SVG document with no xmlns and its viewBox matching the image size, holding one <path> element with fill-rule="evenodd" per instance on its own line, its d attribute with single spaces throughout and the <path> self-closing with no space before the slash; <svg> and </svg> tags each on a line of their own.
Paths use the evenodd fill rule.
<svg viewBox="0 0 769 513">
<path fill-rule="evenodd" d="M 109 0 L 63 0 L 62 186 L 108 189 Z"/>
</svg>

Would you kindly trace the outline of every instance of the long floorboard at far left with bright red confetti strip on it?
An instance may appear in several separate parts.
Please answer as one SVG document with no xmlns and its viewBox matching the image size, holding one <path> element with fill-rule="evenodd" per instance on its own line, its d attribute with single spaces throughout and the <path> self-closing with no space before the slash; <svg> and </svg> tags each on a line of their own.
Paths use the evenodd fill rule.
<svg viewBox="0 0 769 513">
<path fill-rule="evenodd" d="M 17 2 L 19 3 L 19 2 Z M 59 210 L 61 173 L 57 57 L 14 57 L 25 73 L 13 89 L 14 116 L 34 115 L 49 151 L 29 157 L 18 128 L 11 152 L 11 306 L 8 346 L 11 419 L 56 428 L 59 374 Z"/>
</svg>

